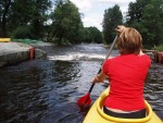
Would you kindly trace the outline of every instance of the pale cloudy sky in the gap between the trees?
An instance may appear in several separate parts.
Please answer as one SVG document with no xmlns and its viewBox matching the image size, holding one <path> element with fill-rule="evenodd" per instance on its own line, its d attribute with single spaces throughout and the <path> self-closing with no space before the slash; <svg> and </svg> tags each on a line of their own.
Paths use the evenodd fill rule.
<svg viewBox="0 0 163 123">
<path fill-rule="evenodd" d="M 136 0 L 71 0 L 78 9 L 79 12 L 84 14 L 82 17 L 84 26 L 90 27 L 96 26 L 102 30 L 102 20 L 104 10 L 113 8 L 115 4 L 120 5 L 120 10 L 123 15 L 128 10 L 129 2 L 135 2 Z"/>
</svg>

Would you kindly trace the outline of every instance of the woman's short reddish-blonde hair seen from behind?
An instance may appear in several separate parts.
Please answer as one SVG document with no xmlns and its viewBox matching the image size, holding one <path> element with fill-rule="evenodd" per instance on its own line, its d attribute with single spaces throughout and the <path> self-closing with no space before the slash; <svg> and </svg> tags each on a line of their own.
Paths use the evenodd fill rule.
<svg viewBox="0 0 163 123">
<path fill-rule="evenodd" d="M 118 36 L 117 48 L 121 54 L 135 53 L 139 54 L 142 47 L 141 35 L 135 29 L 127 27 Z"/>
</svg>

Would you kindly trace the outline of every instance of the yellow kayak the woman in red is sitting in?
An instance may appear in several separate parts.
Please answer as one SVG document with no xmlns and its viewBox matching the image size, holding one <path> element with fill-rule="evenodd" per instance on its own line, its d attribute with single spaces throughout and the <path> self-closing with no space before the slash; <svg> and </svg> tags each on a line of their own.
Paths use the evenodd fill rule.
<svg viewBox="0 0 163 123">
<path fill-rule="evenodd" d="M 147 116 L 142 119 L 122 119 L 105 114 L 102 111 L 102 106 L 109 89 L 105 89 L 96 102 L 89 109 L 83 123 L 163 123 L 161 119 L 152 111 L 151 106 L 145 100 Z"/>
</svg>

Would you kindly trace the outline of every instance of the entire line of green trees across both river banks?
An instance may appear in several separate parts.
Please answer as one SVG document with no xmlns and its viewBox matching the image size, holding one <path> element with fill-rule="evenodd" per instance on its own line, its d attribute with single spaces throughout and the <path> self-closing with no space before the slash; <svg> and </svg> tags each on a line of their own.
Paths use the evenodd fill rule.
<svg viewBox="0 0 163 123">
<path fill-rule="evenodd" d="M 143 44 L 163 44 L 163 0 L 136 0 L 122 14 L 118 4 L 103 12 L 102 32 L 84 27 L 78 8 L 70 0 L 1 0 L 0 37 L 29 38 L 58 45 L 111 44 L 117 25 L 138 29 Z"/>
</svg>

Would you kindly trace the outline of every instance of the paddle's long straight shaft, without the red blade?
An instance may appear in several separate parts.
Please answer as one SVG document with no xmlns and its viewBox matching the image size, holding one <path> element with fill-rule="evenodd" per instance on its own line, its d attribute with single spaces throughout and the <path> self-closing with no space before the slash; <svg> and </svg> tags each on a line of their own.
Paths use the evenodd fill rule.
<svg viewBox="0 0 163 123">
<path fill-rule="evenodd" d="M 110 57 L 111 51 L 112 51 L 112 49 L 113 49 L 113 47 L 114 47 L 114 45 L 115 45 L 115 42 L 116 42 L 116 39 L 117 39 L 117 36 L 115 36 L 115 38 L 114 38 L 114 40 L 113 40 L 113 42 L 112 42 L 112 45 L 111 45 L 111 47 L 110 47 L 110 49 L 109 49 L 109 52 L 108 52 L 108 54 L 105 56 L 104 61 L 108 60 L 108 58 Z M 104 61 L 103 61 L 103 62 L 104 62 Z M 102 64 L 103 64 L 103 62 L 102 62 Z M 98 74 L 99 74 L 100 72 L 101 72 L 101 67 L 100 67 L 100 70 L 99 70 Z M 91 93 L 93 86 L 95 86 L 95 83 L 91 84 L 91 87 L 90 87 L 90 89 L 89 89 L 89 93 Z"/>
</svg>

